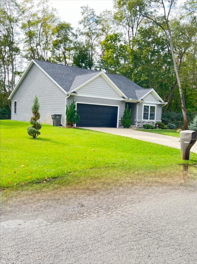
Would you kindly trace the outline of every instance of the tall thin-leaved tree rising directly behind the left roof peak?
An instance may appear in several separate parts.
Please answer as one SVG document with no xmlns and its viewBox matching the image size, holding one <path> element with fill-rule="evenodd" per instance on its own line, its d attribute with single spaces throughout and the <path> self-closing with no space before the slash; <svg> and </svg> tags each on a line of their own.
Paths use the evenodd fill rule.
<svg viewBox="0 0 197 264">
<path fill-rule="evenodd" d="M 36 4 L 36 6 L 35 6 Z M 22 30 L 25 35 L 25 57 L 47 61 L 52 45 L 52 30 L 58 23 L 56 10 L 48 0 L 24 0 Z"/>
</svg>

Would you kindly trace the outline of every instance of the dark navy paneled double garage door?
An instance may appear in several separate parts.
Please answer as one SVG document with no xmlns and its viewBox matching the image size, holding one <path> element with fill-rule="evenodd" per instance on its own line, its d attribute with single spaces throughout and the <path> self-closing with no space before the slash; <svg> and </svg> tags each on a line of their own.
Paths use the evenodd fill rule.
<svg viewBox="0 0 197 264">
<path fill-rule="evenodd" d="M 117 127 L 118 107 L 94 104 L 77 104 L 79 127 Z"/>
</svg>

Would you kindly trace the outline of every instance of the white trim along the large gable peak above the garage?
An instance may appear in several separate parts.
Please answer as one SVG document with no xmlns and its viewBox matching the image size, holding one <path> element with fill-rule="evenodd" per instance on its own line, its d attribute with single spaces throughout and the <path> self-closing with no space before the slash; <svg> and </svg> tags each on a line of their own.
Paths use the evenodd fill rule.
<svg viewBox="0 0 197 264">
<path fill-rule="evenodd" d="M 98 74 L 94 75 L 93 77 L 91 77 L 90 79 L 88 79 L 86 82 L 83 82 L 82 84 L 80 84 L 79 86 L 75 87 L 73 90 L 71 90 L 69 92 L 70 93 L 76 92 L 77 90 L 79 90 L 80 88 L 82 88 L 83 86 L 85 86 L 86 84 L 88 84 L 89 82 L 93 81 L 94 79 L 96 79 L 100 75 L 117 92 L 117 94 L 119 94 L 120 97 L 127 98 L 127 96 L 125 94 L 123 94 L 123 92 L 118 88 L 118 86 L 116 86 L 115 83 L 112 82 L 112 80 L 103 71 L 100 71 Z"/>
</svg>

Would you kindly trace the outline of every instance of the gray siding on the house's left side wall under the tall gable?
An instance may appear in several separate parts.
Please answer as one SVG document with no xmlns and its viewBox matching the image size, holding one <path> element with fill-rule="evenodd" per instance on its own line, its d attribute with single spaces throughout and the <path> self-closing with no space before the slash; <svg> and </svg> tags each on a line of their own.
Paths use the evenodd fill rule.
<svg viewBox="0 0 197 264">
<path fill-rule="evenodd" d="M 29 121 L 35 94 L 40 103 L 39 121 L 44 124 L 53 124 L 51 114 L 61 114 L 61 123 L 65 125 L 67 95 L 34 64 L 12 97 L 11 119 Z M 17 114 L 14 114 L 14 101 L 17 101 Z"/>
</svg>

